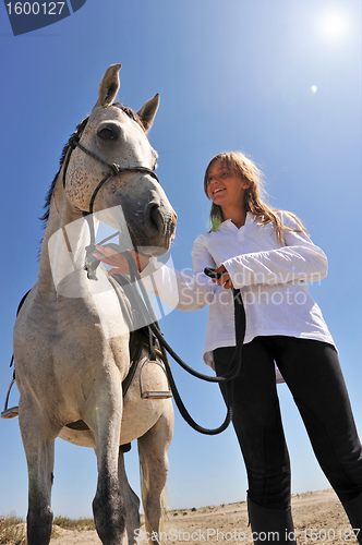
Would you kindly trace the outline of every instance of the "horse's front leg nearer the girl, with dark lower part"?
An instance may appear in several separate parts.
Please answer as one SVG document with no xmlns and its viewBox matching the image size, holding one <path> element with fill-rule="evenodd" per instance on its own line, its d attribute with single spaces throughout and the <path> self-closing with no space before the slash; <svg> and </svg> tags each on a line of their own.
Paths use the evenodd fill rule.
<svg viewBox="0 0 362 545">
<path fill-rule="evenodd" d="M 93 500 L 96 530 L 104 545 L 122 543 L 125 510 L 118 480 L 118 451 L 122 419 L 119 376 L 100 388 L 87 424 L 95 434 L 98 465 L 97 492 Z"/>
</svg>

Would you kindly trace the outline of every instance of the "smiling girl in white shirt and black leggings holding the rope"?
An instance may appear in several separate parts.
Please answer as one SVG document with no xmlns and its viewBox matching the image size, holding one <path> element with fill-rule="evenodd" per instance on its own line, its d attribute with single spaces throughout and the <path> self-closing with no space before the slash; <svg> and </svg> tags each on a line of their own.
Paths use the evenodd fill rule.
<svg viewBox="0 0 362 545">
<path fill-rule="evenodd" d="M 362 528 L 362 448 L 337 350 L 306 284 L 325 277 L 326 256 L 294 215 L 263 202 L 261 187 L 260 170 L 243 154 L 217 155 L 205 174 L 213 227 L 194 243 L 194 274 L 136 256 L 146 288 L 153 291 L 153 275 L 157 294 L 168 304 L 176 303 L 176 286 L 178 308 L 209 304 L 204 360 L 217 375 L 229 371 L 236 346 L 230 288 L 241 290 L 246 331 L 241 371 L 231 385 L 232 423 L 246 465 L 253 538 L 295 543 L 275 363 L 353 529 Z M 111 272 L 126 272 L 119 254 L 98 250 L 97 257 L 116 266 Z M 205 267 L 221 272 L 217 282 L 204 275 Z M 221 391 L 226 397 L 225 385 Z"/>
</svg>

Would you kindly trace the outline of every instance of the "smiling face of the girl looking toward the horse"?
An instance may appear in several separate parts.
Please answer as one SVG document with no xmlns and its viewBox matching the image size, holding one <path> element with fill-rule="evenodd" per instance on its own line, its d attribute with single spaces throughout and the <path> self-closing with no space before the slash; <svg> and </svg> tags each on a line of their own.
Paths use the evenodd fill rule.
<svg viewBox="0 0 362 545">
<path fill-rule="evenodd" d="M 210 199 L 221 206 L 244 206 L 244 192 L 250 187 L 250 182 L 230 169 L 226 161 L 216 159 L 208 169 L 207 193 Z"/>
</svg>

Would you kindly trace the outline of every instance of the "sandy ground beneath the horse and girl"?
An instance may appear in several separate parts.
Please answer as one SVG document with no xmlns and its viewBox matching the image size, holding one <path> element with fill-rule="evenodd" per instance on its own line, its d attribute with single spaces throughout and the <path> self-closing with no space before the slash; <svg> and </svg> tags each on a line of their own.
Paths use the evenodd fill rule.
<svg viewBox="0 0 362 545">
<path fill-rule="evenodd" d="M 299 544 L 333 545 L 357 543 L 347 516 L 334 491 L 305 493 L 292 497 L 292 511 Z M 165 544 L 202 545 L 203 543 L 241 543 L 251 545 L 246 504 L 208 506 L 196 510 L 168 511 L 164 522 Z M 141 528 L 141 534 L 144 528 Z M 261 538 L 264 536 L 261 535 Z M 265 537 L 264 537 L 265 541 Z M 275 540 L 276 544 L 277 541 Z M 145 544 L 138 538 L 140 545 Z M 153 543 L 153 542 L 150 542 Z M 59 529 L 51 545 L 100 544 L 94 531 L 74 532 Z"/>
</svg>

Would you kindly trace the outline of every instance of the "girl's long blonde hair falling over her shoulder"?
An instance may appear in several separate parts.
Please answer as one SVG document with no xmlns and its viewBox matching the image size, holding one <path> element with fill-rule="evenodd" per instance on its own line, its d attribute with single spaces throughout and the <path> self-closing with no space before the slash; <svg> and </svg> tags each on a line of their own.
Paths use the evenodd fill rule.
<svg viewBox="0 0 362 545">
<path fill-rule="evenodd" d="M 256 216 L 260 219 L 260 225 L 262 226 L 272 222 L 277 232 L 277 239 L 281 244 L 282 244 L 282 234 L 281 234 L 282 229 L 287 229 L 288 231 L 304 232 L 305 234 L 307 234 L 303 223 L 294 214 L 288 211 L 288 214 L 295 219 L 295 221 L 300 226 L 300 229 L 290 229 L 283 226 L 281 223 L 279 215 L 276 213 L 285 210 L 278 210 L 276 208 L 272 208 L 265 203 L 265 201 L 263 201 L 263 197 L 265 198 L 266 196 L 266 192 L 264 190 L 263 172 L 256 167 L 255 162 L 253 162 L 249 157 L 246 157 L 241 152 L 225 152 L 222 154 L 216 155 L 209 161 L 204 178 L 204 191 L 206 193 L 207 198 L 210 198 L 207 192 L 208 171 L 212 165 L 217 160 L 222 161 L 224 164 L 226 164 L 229 170 L 233 170 L 241 179 L 245 179 L 250 182 L 250 187 L 245 189 L 244 192 L 245 210 Z M 210 230 L 217 231 L 222 221 L 225 221 L 222 209 L 219 205 L 213 203 L 209 219 L 212 225 Z"/>
</svg>

